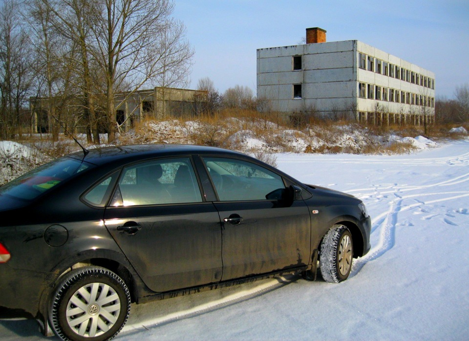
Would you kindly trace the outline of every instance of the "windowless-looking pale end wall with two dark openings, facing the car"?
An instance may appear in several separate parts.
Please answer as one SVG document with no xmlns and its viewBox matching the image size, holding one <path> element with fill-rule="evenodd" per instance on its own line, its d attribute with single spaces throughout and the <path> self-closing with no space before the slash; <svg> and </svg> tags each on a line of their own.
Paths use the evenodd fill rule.
<svg viewBox="0 0 469 341">
<path fill-rule="evenodd" d="M 354 97 L 353 41 L 317 43 L 257 50 L 257 97 L 271 101 L 271 110 L 292 112 L 310 107 L 336 110 Z M 293 56 L 302 56 L 293 71 Z M 302 98 L 293 85 L 302 84 Z"/>
</svg>

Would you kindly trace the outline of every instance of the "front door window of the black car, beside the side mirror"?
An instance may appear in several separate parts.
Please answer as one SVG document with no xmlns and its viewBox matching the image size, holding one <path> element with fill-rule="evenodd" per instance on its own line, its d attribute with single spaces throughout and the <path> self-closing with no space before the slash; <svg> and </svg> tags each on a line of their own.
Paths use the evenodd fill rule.
<svg viewBox="0 0 469 341">
<path fill-rule="evenodd" d="M 282 199 L 285 185 L 282 177 L 251 162 L 204 158 L 220 201 Z"/>
</svg>

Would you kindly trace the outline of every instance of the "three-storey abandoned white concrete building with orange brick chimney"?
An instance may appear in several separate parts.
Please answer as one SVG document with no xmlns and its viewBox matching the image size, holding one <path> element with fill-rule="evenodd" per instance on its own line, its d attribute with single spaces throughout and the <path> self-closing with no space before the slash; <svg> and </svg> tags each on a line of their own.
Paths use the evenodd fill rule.
<svg viewBox="0 0 469 341">
<path fill-rule="evenodd" d="M 327 43 L 325 30 L 307 28 L 306 44 L 257 49 L 257 98 L 285 116 L 424 125 L 434 121 L 435 75 L 357 40 Z"/>
</svg>

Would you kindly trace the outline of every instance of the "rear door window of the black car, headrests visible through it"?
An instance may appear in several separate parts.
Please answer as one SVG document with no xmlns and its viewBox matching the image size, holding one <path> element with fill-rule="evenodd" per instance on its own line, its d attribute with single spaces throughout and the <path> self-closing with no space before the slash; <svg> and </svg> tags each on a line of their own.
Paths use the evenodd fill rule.
<svg viewBox="0 0 469 341">
<path fill-rule="evenodd" d="M 110 206 L 201 202 L 189 158 L 144 162 L 122 170 Z"/>
</svg>

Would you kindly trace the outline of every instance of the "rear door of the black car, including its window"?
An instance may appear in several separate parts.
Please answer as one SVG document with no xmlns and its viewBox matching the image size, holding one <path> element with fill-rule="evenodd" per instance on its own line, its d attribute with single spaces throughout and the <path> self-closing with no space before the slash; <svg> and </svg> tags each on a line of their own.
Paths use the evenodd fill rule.
<svg viewBox="0 0 469 341">
<path fill-rule="evenodd" d="M 189 157 L 124 168 L 105 225 L 155 292 L 221 279 L 219 216 L 202 200 Z"/>
</svg>

